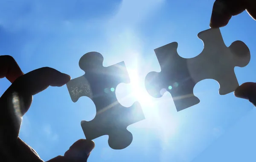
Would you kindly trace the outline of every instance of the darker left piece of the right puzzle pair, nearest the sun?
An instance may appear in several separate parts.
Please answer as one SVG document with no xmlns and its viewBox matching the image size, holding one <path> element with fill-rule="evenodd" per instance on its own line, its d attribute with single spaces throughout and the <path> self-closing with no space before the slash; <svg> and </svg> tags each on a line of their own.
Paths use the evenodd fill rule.
<svg viewBox="0 0 256 162">
<path fill-rule="evenodd" d="M 171 93 L 177 111 L 186 109 L 199 103 L 193 94 L 195 82 L 192 80 L 187 67 L 186 59 L 177 53 L 177 42 L 172 42 L 155 49 L 161 72 L 150 72 L 145 78 L 145 87 L 148 93 L 160 98 L 163 93 Z"/>
</svg>

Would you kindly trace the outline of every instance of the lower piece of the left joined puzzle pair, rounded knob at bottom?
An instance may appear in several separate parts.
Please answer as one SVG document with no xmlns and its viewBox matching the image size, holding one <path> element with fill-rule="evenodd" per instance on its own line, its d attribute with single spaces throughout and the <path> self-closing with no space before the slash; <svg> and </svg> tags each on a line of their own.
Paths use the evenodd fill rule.
<svg viewBox="0 0 256 162">
<path fill-rule="evenodd" d="M 102 112 L 97 112 L 92 121 L 81 121 L 86 139 L 93 140 L 97 137 L 108 135 L 108 144 L 113 149 L 126 148 L 132 142 L 132 134 L 127 126 L 144 120 L 140 104 L 135 102 L 131 107 L 126 108 L 119 103 L 109 105 Z"/>
</svg>

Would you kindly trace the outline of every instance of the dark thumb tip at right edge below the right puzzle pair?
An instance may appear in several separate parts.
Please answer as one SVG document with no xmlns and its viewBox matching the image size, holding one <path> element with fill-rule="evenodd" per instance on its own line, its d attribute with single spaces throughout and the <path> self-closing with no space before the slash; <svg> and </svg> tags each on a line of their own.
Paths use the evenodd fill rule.
<svg viewBox="0 0 256 162">
<path fill-rule="evenodd" d="M 235 90 L 234 94 L 236 97 L 249 100 L 256 106 L 256 83 L 244 83 Z"/>
</svg>

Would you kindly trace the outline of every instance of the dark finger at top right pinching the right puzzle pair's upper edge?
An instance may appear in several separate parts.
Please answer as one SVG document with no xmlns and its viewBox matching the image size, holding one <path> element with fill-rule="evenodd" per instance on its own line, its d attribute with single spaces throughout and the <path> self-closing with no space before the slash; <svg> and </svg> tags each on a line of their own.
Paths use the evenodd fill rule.
<svg viewBox="0 0 256 162">
<path fill-rule="evenodd" d="M 244 0 L 216 0 L 212 8 L 210 27 L 226 26 L 232 16 L 240 14 L 245 8 Z"/>
</svg>

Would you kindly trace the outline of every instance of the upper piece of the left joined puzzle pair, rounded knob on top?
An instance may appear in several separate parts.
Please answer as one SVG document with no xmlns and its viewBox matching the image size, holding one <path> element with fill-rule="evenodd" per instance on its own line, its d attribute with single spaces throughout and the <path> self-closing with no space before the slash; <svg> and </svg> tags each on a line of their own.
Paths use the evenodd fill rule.
<svg viewBox="0 0 256 162">
<path fill-rule="evenodd" d="M 119 83 L 130 82 L 123 61 L 109 67 L 103 67 L 103 60 L 103 56 L 98 52 L 89 52 L 81 57 L 79 67 L 84 70 L 85 74 L 67 83 L 73 102 L 78 101 L 81 96 L 93 99 L 106 95 L 104 90 L 115 89 Z"/>
</svg>

